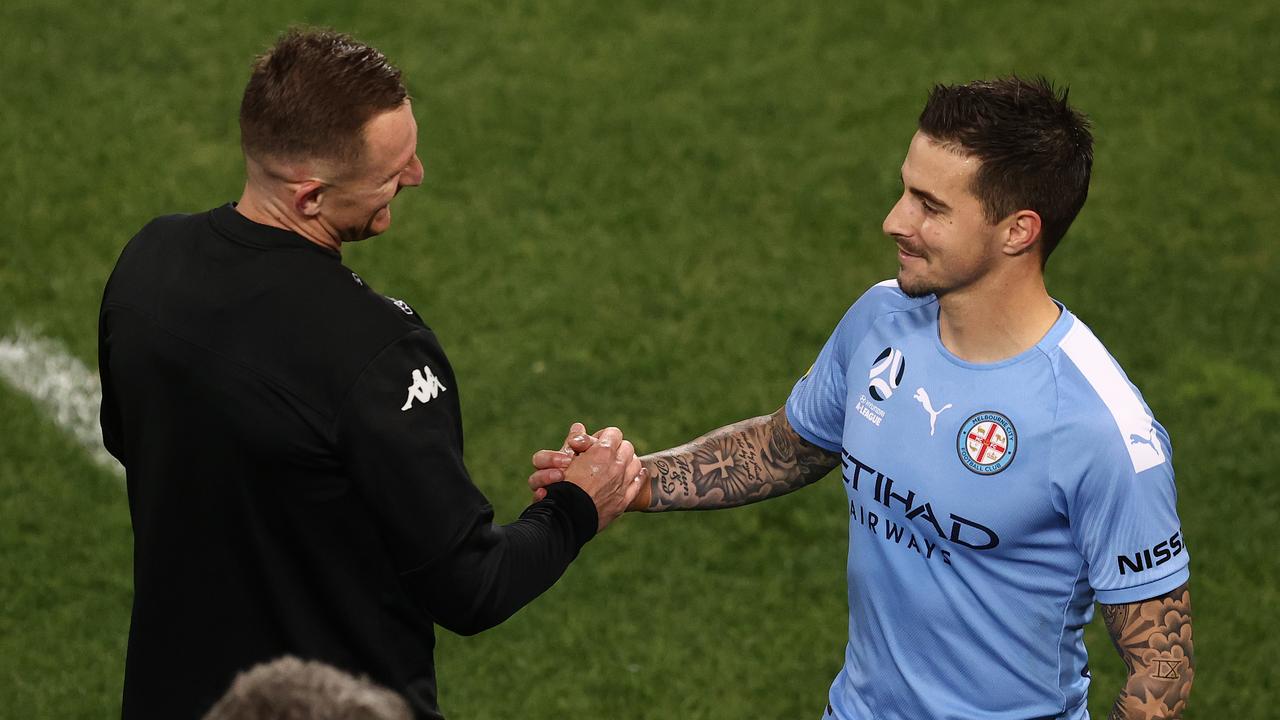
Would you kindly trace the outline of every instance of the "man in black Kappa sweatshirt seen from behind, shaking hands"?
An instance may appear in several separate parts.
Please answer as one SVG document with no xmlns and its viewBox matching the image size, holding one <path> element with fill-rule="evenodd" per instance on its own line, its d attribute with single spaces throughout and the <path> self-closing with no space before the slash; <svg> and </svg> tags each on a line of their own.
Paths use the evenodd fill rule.
<svg viewBox="0 0 1280 720">
<path fill-rule="evenodd" d="M 608 429 L 493 523 L 435 334 L 342 264 L 422 181 L 381 53 L 288 32 L 239 119 L 239 202 L 148 223 L 102 297 L 102 437 L 134 534 L 123 716 L 200 717 L 237 671 L 294 655 L 440 717 L 434 625 L 477 633 L 550 587 L 639 492 L 640 461 Z"/>
</svg>

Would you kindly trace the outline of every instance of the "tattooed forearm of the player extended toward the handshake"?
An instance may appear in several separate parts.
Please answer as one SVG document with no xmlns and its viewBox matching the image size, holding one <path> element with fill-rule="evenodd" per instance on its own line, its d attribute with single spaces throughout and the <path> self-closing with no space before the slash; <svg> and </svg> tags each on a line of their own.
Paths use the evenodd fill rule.
<svg viewBox="0 0 1280 720">
<path fill-rule="evenodd" d="M 641 459 L 649 512 L 735 507 L 799 489 L 840 464 L 840 455 L 800 437 L 786 410 L 726 425 Z"/>
</svg>

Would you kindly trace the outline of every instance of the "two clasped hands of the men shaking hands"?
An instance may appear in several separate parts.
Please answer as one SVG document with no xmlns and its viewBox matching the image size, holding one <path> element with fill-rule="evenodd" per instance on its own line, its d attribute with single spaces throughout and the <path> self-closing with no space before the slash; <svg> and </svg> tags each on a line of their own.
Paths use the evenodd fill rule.
<svg viewBox="0 0 1280 720">
<path fill-rule="evenodd" d="M 649 470 L 636 457 L 631 441 L 622 439 L 622 430 L 617 428 L 588 434 L 581 423 L 573 423 L 559 450 L 534 454 L 534 468 L 529 475 L 534 500 L 547 497 L 544 488 L 552 483 L 576 484 L 595 502 L 599 518 L 596 532 L 625 511 L 643 507 L 641 501 L 648 501 L 645 479 Z"/>
</svg>

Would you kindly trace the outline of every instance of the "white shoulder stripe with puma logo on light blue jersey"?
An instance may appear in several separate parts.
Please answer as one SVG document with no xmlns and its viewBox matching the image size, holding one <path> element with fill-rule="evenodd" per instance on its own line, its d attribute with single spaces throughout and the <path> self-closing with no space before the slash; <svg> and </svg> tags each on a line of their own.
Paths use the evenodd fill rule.
<svg viewBox="0 0 1280 720">
<path fill-rule="evenodd" d="M 1156 437 L 1155 420 L 1093 332 L 1076 318 L 1060 345 L 1111 411 L 1133 461 L 1133 471 L 1142 473 L 1164 462 L 1165 451 Z"/>
</svg>

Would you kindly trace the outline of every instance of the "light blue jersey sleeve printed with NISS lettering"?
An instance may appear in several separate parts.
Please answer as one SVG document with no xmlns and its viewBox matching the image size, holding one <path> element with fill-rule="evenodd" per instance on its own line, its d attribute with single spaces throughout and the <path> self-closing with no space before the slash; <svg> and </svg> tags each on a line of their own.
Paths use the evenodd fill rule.
<svg viewBox="0 0 1280 720">
<path fill-rule="evenodd" d="M 1152 421 L 1149 439 L 1164 461 L 1138 469 L 1114 432 L 1093 452 L 1069 509 L 1071 534 L 1089 566 L 1098 602 L 1121 605 L 1167 593 L 1187 582 L 1190 555 L 1178 519 L 1169 436 Z"/>
</svg>

